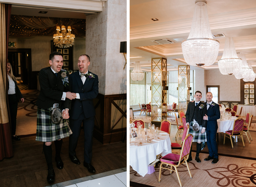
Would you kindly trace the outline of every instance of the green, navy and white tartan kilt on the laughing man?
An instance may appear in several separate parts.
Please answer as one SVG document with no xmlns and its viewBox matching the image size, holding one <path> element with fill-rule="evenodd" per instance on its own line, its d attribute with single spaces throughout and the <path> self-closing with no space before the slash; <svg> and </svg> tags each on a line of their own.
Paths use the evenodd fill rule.
<svg viewBox="0 0 256 187">
<path fill-rule="evenodd" d="M 37 135 L 35 141 L 52 142 L 69 137 L 72 134 L 69 127 L 69 119 L 63 119 L 60 123 L 52 123 L 51 110 L 53 108 L 45 110 L 37 107 Z"/>
</svg>

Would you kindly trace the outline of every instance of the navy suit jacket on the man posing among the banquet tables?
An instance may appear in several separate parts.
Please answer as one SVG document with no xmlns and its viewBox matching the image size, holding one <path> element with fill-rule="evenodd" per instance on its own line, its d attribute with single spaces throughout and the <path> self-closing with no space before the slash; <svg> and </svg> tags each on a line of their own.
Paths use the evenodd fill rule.
<svg viewBox="0 0 256 187">
<path fill-rule="evenodd" d="M 208 115 L 208 121 L 207 121 L 207 127 L 206 130 L 217 130 L 218 129 L 218 123 L 217 119 L 221 118 L 221 112 L 219 111 L 219 104 L 212 102 L 212 104 L 215 104 L 214 106 L 211 106 L 207 110 Z"/>
</svg>

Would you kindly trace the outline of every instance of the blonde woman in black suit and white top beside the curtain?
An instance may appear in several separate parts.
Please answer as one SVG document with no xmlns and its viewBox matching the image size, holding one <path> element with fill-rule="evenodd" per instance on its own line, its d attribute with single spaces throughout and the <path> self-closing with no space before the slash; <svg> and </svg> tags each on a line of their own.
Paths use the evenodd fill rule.
<svg viewBox="0 0 256 187">
<path fill-rule="evenodd" d="M 24 98 L 17 86 L 16 77 L 12 73 L 12 66 L 10 62 L 7 62 L 7 76 L 8 76 L 8 101 L 11 114 L 12 124 L 12 139 L 19 141 L 20 137 L 16 136 L 16 117 L 18 110 L 19 99 L 24 102 Z"/>
</svg>

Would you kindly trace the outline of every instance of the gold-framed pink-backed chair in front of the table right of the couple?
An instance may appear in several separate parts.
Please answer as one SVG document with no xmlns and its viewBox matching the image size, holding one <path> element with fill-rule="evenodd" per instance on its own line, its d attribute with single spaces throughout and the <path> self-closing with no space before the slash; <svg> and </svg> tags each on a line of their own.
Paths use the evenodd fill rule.
<svg viewBox="0 0 256 187">
<path fill-rule="evenodd" d="M 242 119 L 242 118 L 236 119 L 234 121 L 233 130 L 225 131 L 223 145 L 225 145 L 225 138 L 226 137 L 230 138 L 232 149 L 233 149 L 234 147 L 233 147 L 233 142 L 232 142 L 232 136 L 236 136 L 236 137 L 240 136 L 242 138 L 242 142 L 243 142 L 243 145 L 244 145 L 244 139 L 243 139 L 243 136 L 242 136 L 243 128 L 244 128 L 244 119 Z"/>
</svg>

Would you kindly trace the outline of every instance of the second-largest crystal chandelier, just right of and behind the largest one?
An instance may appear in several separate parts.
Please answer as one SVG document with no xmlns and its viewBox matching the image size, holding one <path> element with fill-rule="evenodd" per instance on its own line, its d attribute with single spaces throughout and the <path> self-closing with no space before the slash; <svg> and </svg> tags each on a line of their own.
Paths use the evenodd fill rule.
<svg viewBox="0 0 256 187">
<path fill-rule="evenodd" d="M 237 57 L 233 38 L 226 38 L 223 55 L 218 60 L 219 71 L 223 75 L 237 74 L 242 66 L 242 59 Z"/>
</svg>

